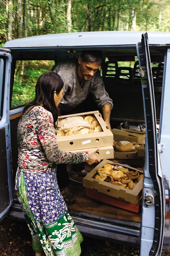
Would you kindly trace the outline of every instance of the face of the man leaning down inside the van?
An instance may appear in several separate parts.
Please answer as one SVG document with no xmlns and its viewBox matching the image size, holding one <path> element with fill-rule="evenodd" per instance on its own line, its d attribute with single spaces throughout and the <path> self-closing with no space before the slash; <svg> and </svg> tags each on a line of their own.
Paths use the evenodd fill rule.
<svg viewBox="0 0 170 256">
<path fill-rule="evenodd" d="M 78 64 L 78 76 L 87 81 L 91 80 L 100 68 L 98 62 L 83 62 L 81 57 L 78 58 Z"/>
</svg>

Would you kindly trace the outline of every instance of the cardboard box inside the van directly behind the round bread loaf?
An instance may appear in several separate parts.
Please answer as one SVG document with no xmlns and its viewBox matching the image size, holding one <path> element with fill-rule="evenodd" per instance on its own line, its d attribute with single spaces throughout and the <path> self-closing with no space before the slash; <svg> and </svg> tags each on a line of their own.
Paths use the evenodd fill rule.
<svg viewBox="0 0 170 256">
<path fill-rule="evenodd" d="M 114 140 L 117 142 L 121 140 L 126 140 L 132 143 L 143 144 L 146 136 L 145 132 L 124 129 L 121 127 L 121 125 L 118 126 L 117 129 L 112 129 L 111 131 L 113 133 Z"/>
</svg>

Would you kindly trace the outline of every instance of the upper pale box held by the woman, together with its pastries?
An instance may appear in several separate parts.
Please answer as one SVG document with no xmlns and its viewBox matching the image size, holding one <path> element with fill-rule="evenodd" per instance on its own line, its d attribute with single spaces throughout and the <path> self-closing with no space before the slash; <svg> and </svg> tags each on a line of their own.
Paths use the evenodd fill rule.
<svg viewBox="0 0 170 256">
<path fill-rule="evenodd" d="M 55 130 L 60 150 L 113 146 L 113 133 L 99 111 L 59 116 Z"/>
</svg>

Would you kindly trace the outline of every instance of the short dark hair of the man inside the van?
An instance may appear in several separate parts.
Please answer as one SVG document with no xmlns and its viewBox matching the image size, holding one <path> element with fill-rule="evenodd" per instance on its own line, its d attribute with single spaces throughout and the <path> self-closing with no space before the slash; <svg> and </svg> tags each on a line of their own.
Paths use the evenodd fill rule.
<svg viewBox="0 0 170 256">
<path fill-rule="evenodd" d="M 101 51 L 82 51 L 80 57 L 83 62 L 98 62 L 102 63 L 102 52 Z"/>
</svg>

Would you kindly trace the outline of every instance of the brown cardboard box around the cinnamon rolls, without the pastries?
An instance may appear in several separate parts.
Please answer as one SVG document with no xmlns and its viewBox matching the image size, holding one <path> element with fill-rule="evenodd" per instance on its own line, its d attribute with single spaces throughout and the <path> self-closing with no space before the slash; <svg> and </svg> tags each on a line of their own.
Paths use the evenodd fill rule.
<svg viewBox="0 0 170 256">
<path fill-rule="evenodd" d="M 132 204 L 137 204 L 137 202 L 139 201 L 139 198 L 141 198 L 142 196 L 143 179 L 139 180 L 139 182 L 136 184 L 133 190 L 127 190 L 121 186 L 117 186 L 115 184 L 111 184 L 109 182 L 105 182 L 101 180 L 95 180 L 94 178 L 92 178 L 97 173 L 97 169 L 102 168 L 106 163 L 113 164 L 113 165 L 119 164 L 117 162 L 112 162 L 107 159 L 103 160 L 83 178 L 83 186 L 85 188 L 91 188 L 94 191 L 96 190 L 103 194 L 107 194 L 109 196 L 122 199 Z M 123 165 L 123 164 L 120 164 L 120 165 L 125 168 L 128 168 L 131 171 L 137 170 L 139 174 L 143 174 L 142 170 L 138 170 L 136 168 L 132 168 L 130 166 Z"/>
</svg>

